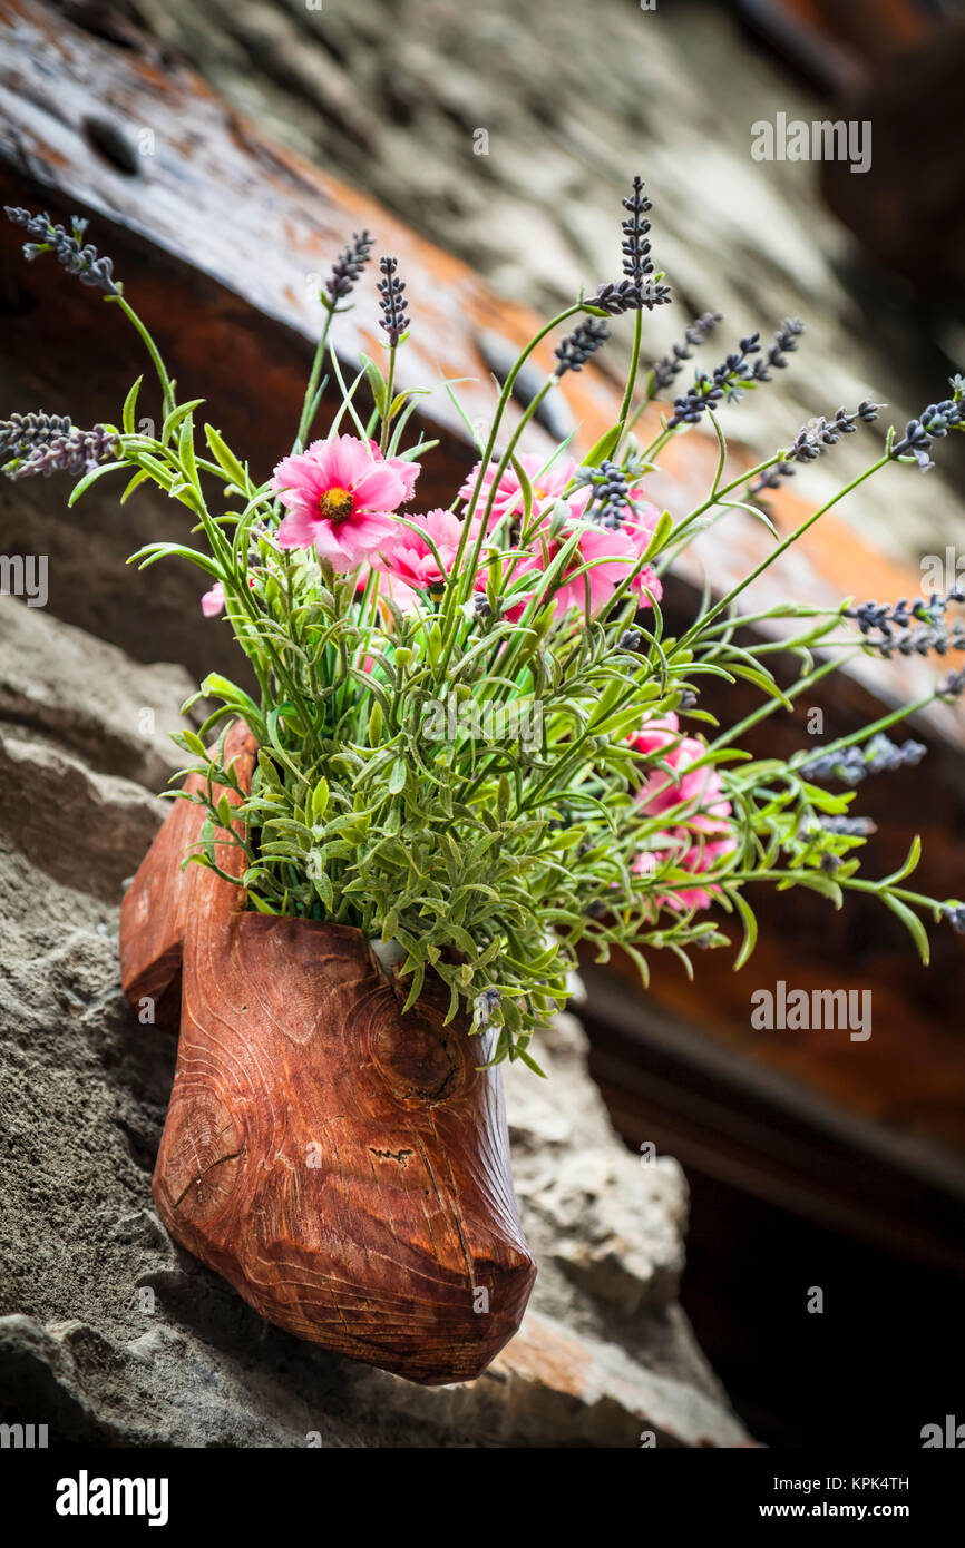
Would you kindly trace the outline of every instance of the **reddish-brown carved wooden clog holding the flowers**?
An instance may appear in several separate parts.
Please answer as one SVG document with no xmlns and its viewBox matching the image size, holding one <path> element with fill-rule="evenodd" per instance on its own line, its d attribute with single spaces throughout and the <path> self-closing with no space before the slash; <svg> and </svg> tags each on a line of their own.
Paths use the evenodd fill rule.
<svg viewBox="0 0 965 1548">
<path fill-rule="evenodd" d="M 243 780 L 254 751 L 235 728 Z M 158 1212 L 288 1333 L 410 1381 L 479 1376 L 536 1277 L 499 1070 L 443 1026 L 441 985 L 403 1015 L 359 930 L 248 912 L 181 870 L 203 819 L 175 802 L 121 909 L 124 992 L 181 1023 Z"/>
</svg>

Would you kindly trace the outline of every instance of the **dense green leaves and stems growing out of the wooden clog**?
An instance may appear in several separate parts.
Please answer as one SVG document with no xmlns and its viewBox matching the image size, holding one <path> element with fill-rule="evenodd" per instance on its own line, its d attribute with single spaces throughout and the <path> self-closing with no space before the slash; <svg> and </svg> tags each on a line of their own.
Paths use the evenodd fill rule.
<svg viewBox="0 0 965 1548">
<path fill-rule="evenodd" d="M 141 333 L 164 398 L 161 433 L 138 433 L 141 382 L 135 382 L 112 466 L 129 474 L 124 498 L 152 481 L 189 512 L 184 542 L 149 543 L 132 562 L 144 568 L 181 559 L 217 580 L 257 681 L 256 698 L 212 673 L 186 706 L 214 704 L 198 732 L 175 735 L 203 788 L 172 794 L 206 808 L 200 845 L 186 864 L 209 865 L 234 882 L 222 864 L 223 847 L 240 847 L 240 884 L 251 907 L 350 924 L 395 943 L 404 954 L 409 1005 L 426 974 L 435 974 L 449 989 L 451 1017 L 465 1009 L 474 1029 L 494 1026 L 493 1057 L 522 1057 L 534 1070 L 530 1039 L 565 1003 L 581 943 L 598 960 L 623 949 L 644 980 L 652 950 L 674 952 L 691 972 L 694 946 L 730 943 L 734 932 L 720 929 L 730 915 L 740 966 L 757 935 L 747 896 L 754 884 L 802 885 L 835 907 L 849 890 L 877 892 L 926 960 L 920 913 L 937 920 L 954 904 L 901 885 L 917 864 L 917 842 L 892 876 L 864 881 L 863 836 L 841 820 L 853 793 L 833 794 L 805 777 L 802 766 L 815 748 L 785 762 L 754 760 L 736 745 L 861 652 L 853 633 L 835 635 L 846 604 L 830 611 L 787 604 L 742 615 L 737 599 L 767 560 L 726 596 L 708 596 L 675 638 L 654 582 L 643 598 L 634 590 L 644 565 L 660 573 L 700 529 L 734 508 L 770 528 L 765 512 L 733 497 L 748 475 L 725 481 L 726 443 L 709 409 L 720 457 L 706 500 L 691 512 L 660 514 L 634 573 L 593 605 L 590 579 L 601 560 L 584 559 L 586 522 L 573 522 L 565 502 L 587 478 L 595 489 L 612 480 L 613 469 L 630 486 L 646 478 L 678 433 L 665 418 L 649 446 L 632 435 L 640 311 L 620 420 L 550 509 L 534 489 L 539 478 L 530 478 L 519 460 L 517 443 L 555 378 L 500 452 L 497 437 L 513 379 L 539 339 L 570 317 L 601 316 L 599 308 L 581 299 L 530 342 L 483 438 L 482 467 L 496 463 L 496 477 L 489 486 L 482 472 L 476 480 L 454 560 L 443 562 L 429 542 L 445 580 L 403 608 L 378 568 L 339 574 L 311 550 L 279 546 L 282 512 L 271 483 L 254 478 L 211 424 L 203 424 L 203 438 L 197 435 L 200 401 L 177 401 L 144 324 L 122 297 L 110 299 Z M 327 303 L 296 450 L 316 418 L 333 311 Z M 403 446 L 417 395 L 395 393 L 395 345 L 387 354 L 386 373 L 362 358 L 347 384 L 330 353 L 342 406 L 328 433 L 375 437 L 384 455 L 414 460 L 432 443 Z M 706 396 L 709 378 L 703 382 Z M 458 407 L 454 385 L 443 385 Z M 356 404 L 359 387 L 375 406 L 367 421 Z M 892 437 L 863 477 L 888 464 L 891 446 Z M 553 460 L 547 457 L 547 464 Z M 87 474 L 73 498 L 105 471 Z M 507 472 L 516 474 L 520 503 L 511 519 L 496 520 L 496 489 Z M 833 503 L 788 537 L 770 528 L 771 559 Z M 412 525 L 406 515 L 398 520 Z M 520 554 L 531 562 L 520 567 Z M 576 580 L 586 605 L 556 605 L 562 587 Z M 774 642 L 761 625 L 779 618 L 802 627 Z M 774 656 L 781 681 L 770 666 Z M 759 706 L 722 729 L 700 707 L 706 678 L 753 687 Z M 709 734 L 695 743 L 686 732 L 683 762 L 683 731 L 635 741 L 641 729 L 675 712 Z M 863 735 L 908 712 L 895 711 Z M 228 731 L 239 720 L 259 743 L 249 791 L 225 762 Z M 841 738 L 833 748 L 858 740 Z M 231 791 L 234 803 L 215 786 Z"/>
</svg>

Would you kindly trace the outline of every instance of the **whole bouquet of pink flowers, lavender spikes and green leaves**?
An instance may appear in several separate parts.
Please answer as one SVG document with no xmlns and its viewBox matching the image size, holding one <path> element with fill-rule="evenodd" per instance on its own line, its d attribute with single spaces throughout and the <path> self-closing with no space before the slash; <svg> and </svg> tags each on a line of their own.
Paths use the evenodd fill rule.
<svg viewBox="0 0 965 1548">
<path fill-rule="evenodd" d="M 722 915 L 734 915 L 740 966 L 756 940 L 748 901 L 756 884 L 807 887 L 835 907 L 847 892 L 875 893 L 923 960 L 923 916 L 965 930 L 965 906 L 906 885 L 917 841 L 891 876 L 860 875 L 872 824 L 850 814 L 853 786 L 867 774 L 922 755 L 919 743 L 891 741 L 889 728 L 932 698 L 959 695 L 965 672 L 819 752 L 753 759 L 740 748 L 751 728 L 860 652 L 965 647 L 950 619 L 965 601 L 960 591 L 895 605 L 846 599 L 833 610 L 740 611 L 750 582 L 843 494 L 892 463 L 931 466 L 932 443 L 965 429 L 965 381 L 953 379 L 951 396 L 901 432 L 889 429 L 866 472 L 779 537 L 762 503 L 767 491 L 858 423 L 874 423 L 880 406 L 812 421 L 750 475 L 728 478 L 719 410 L 787 365 L 802 331 L 788 319 L 770 347 L 754 333 L 713 370 L 695 368 L 641 444 L 643 410 L 691 370 L 694 350 L 722 319 L 705 314 L 671 354 L 643 364 L 643 314 L 669 302 L 669 286 L 651 255 L 640 178 L 623 203 L 623 279 L 579 296 L 527 344 L 477 438 L 476 467 L 448 508 L 431 511 L 418 508 L 418 477 L 435 443 L 414 437 L 420 390 L 397 387 L 409 308 L 395 259 L 378 265 L 384 362 L 362 356 L 345 381 L 330 342 L 370 262 L 369 232 L 353 237 L 321 294 L 325 320 L 300 423 L 290 454 L 265 477 L 212 424 L 201 426 L 200 443 L 201 401 L 178 401 L 110 259 L 85 245 L 84 221 L 67 231 L 46 215 L 8 209 L 31 238 L 28 259 L 53 252 L 138 330 L 163 423 L 156 435 L 138 432 L 141 381 L 119 426 L 85 432 L 64 416 L 14 415 L 0 424 L 5 471 L 79 477 L 71 505 L 119 471 L 130 475 L 122 500 L 147 481 L 166 491 L 186 508 L 191 537 L 149 543 L 132 562 L 197 565 L 209 584 L 204 615 L 228 621 L 251 667 L 251 692 L 212 673 L 184 706 L 215 706 L 197 732 L 175 735 L 192 760 L 183 774 L 200 772 L 203 788 L 169 794 L 206 808 L 200 845 L 184 864 L 240 882 L 262 913 L 358 927 L 407 981 L 407 1006 L 435 974 L 449 989 L 449 1017 L 462 1009 L 474 1031 L 491 1029 L 489 1062 L 522 1059 L 537 1073 L 530 1040 L 567 1000 L 581 943 L 599 960 L 620 947 L 646 981 L 651 952 L 671 950 L 691 971 L 689 949 L 730 944 Z M 624 314 L 634 339 L 616 423 L 581 461 L 568 443 L 520 450 L 544 398 Z M 542 339 L 565 328 L 555 370 L 510 427 L 516 376 Z M 339 407 L 319 433 L 328 385 Z M 454 385 L 441 390 L 460 409 Z M 699 421 L 720 447 L 713 486 L 689 512 L 658 509 L 647 478 L 671 438 Z M 661 577 L 731 509 L 764 522 L 774 546 L 671 635 Z M 790 635 L 761 633 L 778 618 L 795 621 Z M 778 655 L 795 663 L 793 681 L 778 681 L 770 666 Z M 722 726 L 700 704 L 708 676 L 743 680 L 761 703 Z M 225 755 L 239 720 L 259 743 L 249 789 Z M 835 782 L 844 789 L 827 788 Z M 225 844 L 243 850 L 237 878 L 218 864 Z"/>
</svg>

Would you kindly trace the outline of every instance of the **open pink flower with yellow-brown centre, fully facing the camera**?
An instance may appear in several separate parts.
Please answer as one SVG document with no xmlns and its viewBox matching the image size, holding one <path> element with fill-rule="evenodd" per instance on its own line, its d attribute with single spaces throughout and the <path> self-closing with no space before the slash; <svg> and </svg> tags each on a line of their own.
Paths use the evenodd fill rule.
<svg viewBox="0 0 965 1548">
<path fill-rule="evenodd" d="M 352 570 L 397 536 L 390 512 L 410 497 L 418 471 L 352 435 L 283 457 L 271 480 L 288 511 L 279 546 L 314 548 L 335 570 Z"/>
</svg>

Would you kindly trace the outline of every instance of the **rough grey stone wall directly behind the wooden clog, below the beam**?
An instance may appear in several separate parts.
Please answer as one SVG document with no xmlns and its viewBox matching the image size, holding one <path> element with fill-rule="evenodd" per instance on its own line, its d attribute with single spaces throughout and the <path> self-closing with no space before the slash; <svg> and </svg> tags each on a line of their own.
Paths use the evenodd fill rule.
<svg viewBox="0 0 965 1548">
<path fill-rule="evenodd" d="M 548 1084 L 507 1071 L 539 1279 L 477 1382 L 302 1344 L 170 1241 L 150 1173 L 175 1039 L 121 995 L 118 898 L 192 686 L 0 599 L 0 1420 L 108 1446 L 742 1444 L 677 1302 L 683 1175 L 616 1139 L 572 1017 Z"/>
</svg>

